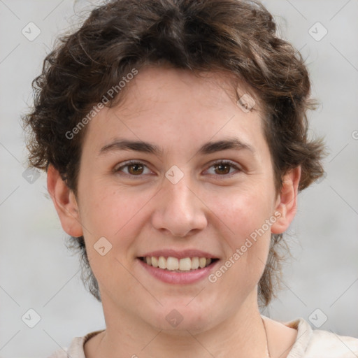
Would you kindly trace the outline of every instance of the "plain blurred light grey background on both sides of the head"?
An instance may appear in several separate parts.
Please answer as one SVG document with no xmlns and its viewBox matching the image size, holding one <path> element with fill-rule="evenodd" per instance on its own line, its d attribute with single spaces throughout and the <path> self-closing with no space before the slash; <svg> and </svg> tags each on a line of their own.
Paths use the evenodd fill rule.
<svg viewBox="0 0 358 358">
<path fill-rule="evenodd" d="M 321 329 L 358 336 L 358 1 L 264 3 L 282 36 L 306 59 L 313 96 L 321 103 L 310 113 L 311 131 L 325 136 L 330 151 L 327 177 L 299 195 L 299 211 L 286 236 L 294 259 L 285 266 L 283 290 L 264 314 L 283 321 L 310 317 L 313 327 L 327 316 Z M 74 336 L 104 327 L 101 305 L 83 288 L 78 259 L 64 245 L 45 174 L 32 184 L 31 177 L 23 176 L 26 149 L 20 124 L 31 104 L 31 80 L 55 36 L 76 24 L 90 5 L 0 0 L 2 358 L 47 357 Z M 41 30 L 34 41 L 22 34 L 29 22 Z M 316 22 L 328 31 L 320 41 L 324 29 Z M 311 27 L 316 39 L 308 32 Z M 29 308 L 41 316 L 32 329 L 22 321 Z"/>
</svg>

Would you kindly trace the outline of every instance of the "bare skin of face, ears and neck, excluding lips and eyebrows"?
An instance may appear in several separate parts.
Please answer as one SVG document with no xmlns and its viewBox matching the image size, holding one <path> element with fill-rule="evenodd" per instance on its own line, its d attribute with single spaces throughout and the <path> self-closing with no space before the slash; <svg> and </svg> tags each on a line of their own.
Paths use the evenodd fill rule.
<svg viewBox="0 0 358 358">
<path fill-rule="evenodd" d="M 257 284 L 271 233 L 284 232 L 296 213 L 301 169 L 289 171 L 275 193 L 259 107 L 241 110 L 224 73 L 198 78 L 147 66 L 128 86 L 119 106 L 103 108 L 87 124 L 77 196 L 48 169 L 62 227 L 85 236 L 99 282 L 106 331 L 85 344 L 86 357 L 265 357 Z M 252 152 L 198 153 L 204 143 L 234 135 Z M 148 141 L 163 153 L 100 154 L 115 138 Z M 115 171 L 129 159 L 145 166 Z M 220 159 L 240 170 L 215 169 Z M 165 177 L 173 165 L 184 175 L 176 184 Z M 136 259 L 153 250 L 190 248 L 215 255 L 221 266 L 278 212 L 280 218 L 215 283 L 164 283 Z M 112 249 L 101 256 L 93 246 L 103 236 Z M 182 316 L 177 327 L 166 321 L 173 309 Z M 273 320 L 266 320 L 266 329 L 271 357 L 286 357 L 296 330 Z"/>
</svg>

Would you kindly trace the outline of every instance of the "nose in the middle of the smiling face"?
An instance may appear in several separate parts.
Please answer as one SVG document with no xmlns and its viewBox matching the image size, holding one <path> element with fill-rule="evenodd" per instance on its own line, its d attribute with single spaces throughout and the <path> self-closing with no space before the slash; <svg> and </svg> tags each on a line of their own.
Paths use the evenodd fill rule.
<svg viewBox="0 0 358 358">
<path fill-rule="evenodd" d="M 185 175 L 176 184 L 164 178 L 152 215 L 155 229 L 171 236 L 186 237 L 206 227 L 206 205 L 188 177 Z"/>
</svg>

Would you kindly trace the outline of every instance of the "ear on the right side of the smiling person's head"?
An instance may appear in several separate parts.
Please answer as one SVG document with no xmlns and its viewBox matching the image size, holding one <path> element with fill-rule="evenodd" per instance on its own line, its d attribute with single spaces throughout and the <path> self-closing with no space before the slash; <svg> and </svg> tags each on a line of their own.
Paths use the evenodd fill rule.
<svg viewBox="0 0 358 358">
<path fill-rule="evenodd" d="M 294 220 L 297 210 L 297 194 L 299 192 L 300 178 L 301 166 L 297 166 L 285 174 L 275 208 L 275 212 L 279 212 L 280 217 L 278 217 L 278 214 L 275 215 L 275 217 L 278 217 L 278 220 L 271 225 L 272 234 L 282 234 L 282 232 L 288 229 L 292 220 Z"/>
</svg>

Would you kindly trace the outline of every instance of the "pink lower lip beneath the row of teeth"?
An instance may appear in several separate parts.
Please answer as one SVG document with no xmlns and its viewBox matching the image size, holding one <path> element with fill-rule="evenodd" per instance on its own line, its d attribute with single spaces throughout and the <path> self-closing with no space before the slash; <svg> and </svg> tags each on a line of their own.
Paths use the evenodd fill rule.
<svg viewBox="0 0 358 358">
<path fill-rule="evenodd" d="M 188 284 L 197 282 L 202 280 L 206 276 L 209 275 L 210 271 L 212 271 L 213 267 L 217 264 L 214 262 L 207 267 L 198 268 L 194 271 L 187 271 L 187 272 L 173 272 L 169 270 L 163 270 L 162 268 L 153 267 L 148 264 L 145 264 L 141 259 L 138 259 L 139 263 L 147 270 L 150 275 L 154 276 L 158 280 L 166 283 L 174 283 L 174 284 Z"/>
</svg>

